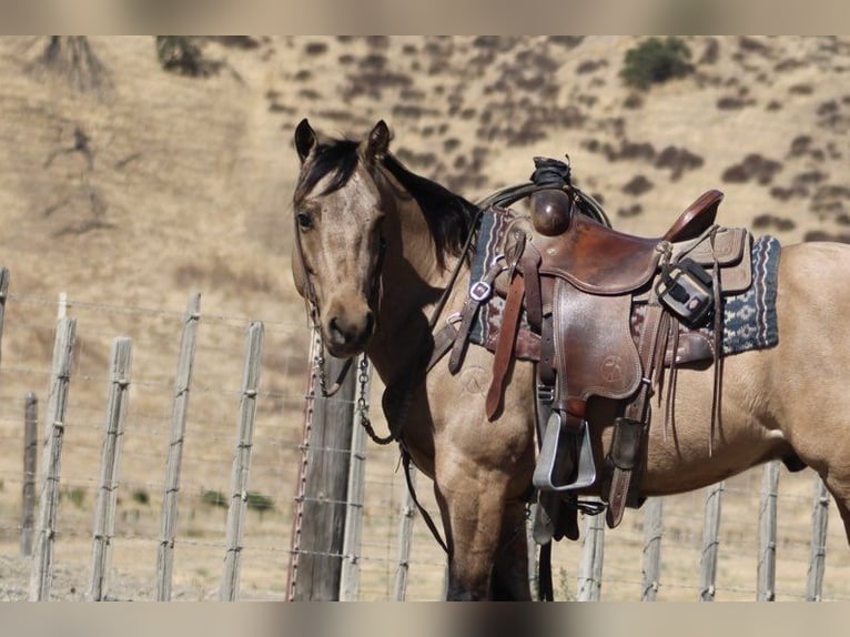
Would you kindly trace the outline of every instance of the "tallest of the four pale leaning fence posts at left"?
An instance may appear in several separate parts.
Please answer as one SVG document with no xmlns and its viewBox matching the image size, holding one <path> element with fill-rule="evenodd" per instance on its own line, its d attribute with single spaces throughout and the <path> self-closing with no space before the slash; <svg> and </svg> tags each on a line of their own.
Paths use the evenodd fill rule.
<svg viewBox="0 0 850 637">
<path fill-rule="evenodd" d="M 183 436 L 186 429 L 189 392 L 192 386 L 192 368 L 198 341 L 198 324 L 201 320 L 201 295 L 189 297 L 183 315 L 183 332 L 180 336 L 178 370 L 174 375 L 174 401 L 171 410 L 171 437 L 165 463 L 165 492 L 162 498 L 160 543 L 156 549 L 156 600 L 171 599 L 171 583 L 174 566 L 174 537 L 178 527 L 178 495 L 180 493 L 180 468 L 183 458 Z"/>
</svg>

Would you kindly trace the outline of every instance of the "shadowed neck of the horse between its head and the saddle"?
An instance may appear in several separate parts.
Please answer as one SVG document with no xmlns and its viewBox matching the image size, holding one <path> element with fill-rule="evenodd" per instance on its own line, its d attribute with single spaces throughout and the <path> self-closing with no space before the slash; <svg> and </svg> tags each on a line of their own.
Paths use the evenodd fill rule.
<svg viewBox="0 0 850 637">
<path fill-rule="evenodd" d="M 437 261 L 422 209 L 413 198 L 392 192 L 394 201 L 384 222 L 377 332 L 367 352 L 386 384 L 421 364 L 431 342 L 428 322 L 451 280 L 451 270 Z"/>
</svg>

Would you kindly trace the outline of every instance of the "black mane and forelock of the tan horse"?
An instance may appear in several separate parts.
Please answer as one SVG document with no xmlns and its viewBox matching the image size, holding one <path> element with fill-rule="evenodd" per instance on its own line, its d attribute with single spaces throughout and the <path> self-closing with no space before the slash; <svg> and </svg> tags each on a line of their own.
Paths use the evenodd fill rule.
<svg viewBox="0 0 850 637">
<path fill-rule="evenodd" d="M 305 196 L 315 185 L 331 174 L 331 182 L 321 194 L 343 188 L 357 168 L 358 142 L 331 140 L 316 146 L 306 173 L 298 179 L 295 201 Z M 445 255 L 459 255 L 470 231 L 477 208 L 463 196 L 443 185 L 411 172 L 393 154 L 382 162 L 386 171 L 416 200 L 437 247 L 437 260 L 445 266 Z"/>
</svg>

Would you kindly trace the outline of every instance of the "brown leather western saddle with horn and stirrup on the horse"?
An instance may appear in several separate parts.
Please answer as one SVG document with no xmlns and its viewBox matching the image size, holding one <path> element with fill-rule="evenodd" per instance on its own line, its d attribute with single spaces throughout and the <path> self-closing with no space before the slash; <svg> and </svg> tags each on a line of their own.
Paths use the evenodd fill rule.
<svg viewBox="0 0 850 637">
<path fill-rule="evenodd" d="M 702 194 L 662 236 L 633 236 L 585 213 L 591 200 L 570 184 L 566 164 L 540 158 L 535 163 L 530 214 L 490 209 L 509 219 L 500 243 L 504 259 L 470 286 L 449 370 L 459 370 L 472 317 L 495 290 L 504 307 L 487 394 L 489 418 L 502 408 L 524 317 L 539 343 L 534 355 L 539 441 L 534 486 L 540 495 L 535 539 L 546 544 L 578 537 L 578 493 L 598 487 L 609 527 L 619 524 L 625 506 L 641 504 L 650 397 L 656 390 L 664 394 L 666 370 L 665 426 L 676 371 L 714 363 L 714 435 L 722 296 L 746 291 L 752 273 L 750 234 L 715 224 L 721 192 Z M 617 406 L 604 467 L 596 466 L 590 444 L 590 398 Z"/>
</svg>

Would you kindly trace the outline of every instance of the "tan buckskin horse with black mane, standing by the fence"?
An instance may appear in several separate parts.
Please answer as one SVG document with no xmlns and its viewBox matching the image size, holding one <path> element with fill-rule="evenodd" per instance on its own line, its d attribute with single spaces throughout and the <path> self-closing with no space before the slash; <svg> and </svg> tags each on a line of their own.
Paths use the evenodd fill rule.
<svg viewBox="0 0 850 637">
<path fill-rule="evenodd" d="M 383 120 L 361 140 L 320 135 L 306 119 L 296 127 L 293 279 L 326 351 L 368 356 L 386 386 L 392 437 L 433 481 L 447 599 L 528 600 L 534 365 L 510 362 L 493 418 L 485 401 L 494 354 L 469 345 L 459 371 L 448 370 L 443 333 L 468 294 L 478 206 L 408 170 L 391 139 Z M 723 358 L 717 423 L 716 364 L 678 372 L 675 426 L 648 429 L 640 496 L 692 491 L 797 457 L 823 478 L 850 542 L 848 272 L 850 246 L 782 246 L 778 344 Z M 613 408 L 588 403 L 597 466 L 610 444 Z M 597 485 L 585 492 L 599 495 Z"/>
</svg>

